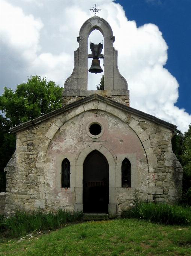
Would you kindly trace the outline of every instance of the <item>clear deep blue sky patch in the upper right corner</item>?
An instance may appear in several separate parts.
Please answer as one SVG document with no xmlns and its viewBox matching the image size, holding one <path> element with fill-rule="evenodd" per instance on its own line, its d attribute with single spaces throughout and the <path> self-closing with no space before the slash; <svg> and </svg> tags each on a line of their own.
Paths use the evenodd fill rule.
<svg viewBox="0 0 191 256">
<path fill-rule="evenodd" d="M 153 23 L 168 45 L 165 68 L 179 83 L 175 104 L 191 114 L 191 0 L 116 0 L 137 26 Z"/>
</svg>

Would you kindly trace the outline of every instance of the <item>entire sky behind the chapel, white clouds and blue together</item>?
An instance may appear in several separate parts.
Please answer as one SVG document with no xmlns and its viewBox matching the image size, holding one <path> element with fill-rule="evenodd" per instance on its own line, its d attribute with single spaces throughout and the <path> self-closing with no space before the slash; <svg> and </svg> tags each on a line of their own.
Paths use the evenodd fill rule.
<svg viewBox="0 0 191 256">
<path fill-rule="evenodd" d="M 0 95 L 31 75 L 63 87 L 74 68 L 80 27 L 94 15 L 89 9 L 95 3 L 116 37 L 130 106 L 187 131 L 191 0 L 0 0 Z M 99 43 L 103 36 L 94 30 L 89 40 Z M 89 73 L 88 90 L 96 90 L 101 75 Z"/>
</svg>

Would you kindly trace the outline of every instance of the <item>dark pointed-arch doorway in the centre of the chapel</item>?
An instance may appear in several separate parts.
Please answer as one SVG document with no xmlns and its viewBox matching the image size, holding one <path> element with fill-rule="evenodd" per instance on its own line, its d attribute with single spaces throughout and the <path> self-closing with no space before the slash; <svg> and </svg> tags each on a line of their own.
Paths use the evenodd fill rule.
<svg viewBox="0 0 191 256">
<path fill-rule="evenodd" d="M 83 165 L 84 213 L 108 213 L 109 165 L 99 151 L 92 151 Z"/>
</svg>

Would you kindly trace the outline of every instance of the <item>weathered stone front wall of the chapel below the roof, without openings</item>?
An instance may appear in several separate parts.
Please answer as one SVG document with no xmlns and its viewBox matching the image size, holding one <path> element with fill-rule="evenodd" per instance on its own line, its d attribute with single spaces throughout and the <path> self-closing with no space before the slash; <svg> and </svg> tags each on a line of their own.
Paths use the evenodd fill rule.
<svg viewBox="0 0 191 256">
<path fill-rule="evenodd" d="M 113 175 L 112 214 L 132 206 L 135 189 L 143 200 L 152 201 L 154 196 L 158 202 L 176 201 L 182 188 L 182 167 L 171 149 L 172 131 L 159 119 L 157 123 L 156 118 L 143 114 L 134 114 L 125 106 L 122 109 L 113 101 L 93 99 L 18 131 L 16 151 L 5 168 L 5 213 L 15 213 L 16 209 L 31 212 L 39 207 L 46 211 L 56 211 L 58 207 L 80 209 L 80 172 L 85 157 L 94 149 L 102 150 Z M 106 126 L 108 123 L 107 139 L 84 139 L 83 122 L 87 118 L 104 119 Z M 120 187 L 121 163 L 126 156 L 134 166 L 132 173 L 137 173 L 131 188 Z M 64 157 L 73 168 L 73 183 L 68 189 L 61 188 L 59 183 Z"/>
</svg>

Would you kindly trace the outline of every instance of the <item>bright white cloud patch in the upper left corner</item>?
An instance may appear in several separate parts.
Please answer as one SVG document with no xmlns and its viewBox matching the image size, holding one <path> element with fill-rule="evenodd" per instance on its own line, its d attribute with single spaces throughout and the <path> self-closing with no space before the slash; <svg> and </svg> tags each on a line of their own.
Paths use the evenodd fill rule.
<svg viewBox="0 0 191 256">
<path fill-rule="evenodd" d="M 40 18 L 32 14 L 24 15 L 19 7 L 14 7 L 6 1 L 1 1 L 0 17 L 1 41 L 16 51 L 22 52 L 23 58 L 34 58 L 40 49 L 39 32 L 43 27 Z"/>
</svg>

